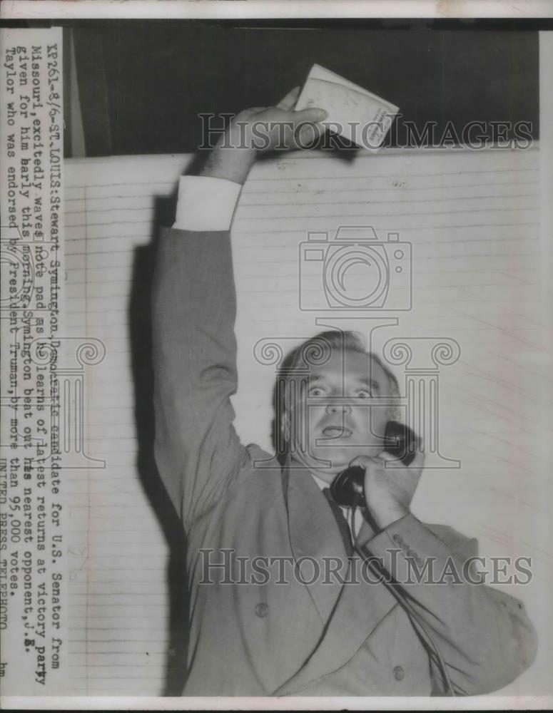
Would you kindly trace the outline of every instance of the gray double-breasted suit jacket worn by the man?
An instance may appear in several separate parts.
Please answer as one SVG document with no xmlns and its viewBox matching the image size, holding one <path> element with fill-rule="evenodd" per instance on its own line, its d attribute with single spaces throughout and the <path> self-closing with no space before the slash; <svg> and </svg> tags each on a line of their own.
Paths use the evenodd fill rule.
<svg viewBox="0 0 553 713">
<path fill-rule="evenodd" d="M 283 473 L 258 446 L 243 446 L 233 428 L 235 291 L 228 233 L 166 231 L 154 283 L 156 461 L 188 535 L 191 635 L 184 694 L 442 694 L 427 635 L 382 583 L 312 582 L 309 568 L 302 569 L 303 581 L 288 577 L 279 584 L 270 569 L 272 577 L 235 583 L 230 550 L 248 563 L 288 558 L 281 561 L 323 568 L 323 557 L 346 560 L 343 541 L 310 473 Z M 413 515 L 377 535 L 363 525 L 356 543 L 358 551 L 382 557 L 398 578 L 408 557 L 433 557 L 440 570 L 447 558 L 460 562 L 474 554 L 475 544 Z M 209 562 L 228 567 L 206 570 Z M 209 578 L 212 584 L 202 583 Z M 467 583 L 413 583 L 404 591 L 457 691 L 499 689 L 534 660 L 535 632 L 513 597 Z"/>
</svg>

